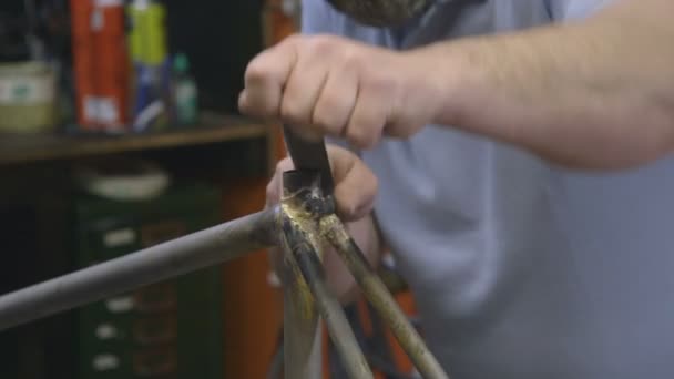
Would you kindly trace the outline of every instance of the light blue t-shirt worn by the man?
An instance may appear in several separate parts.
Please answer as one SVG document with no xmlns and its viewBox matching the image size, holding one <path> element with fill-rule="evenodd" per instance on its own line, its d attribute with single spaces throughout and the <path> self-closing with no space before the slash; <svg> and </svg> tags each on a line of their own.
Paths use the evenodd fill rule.
<svg viewBox="0 0 674 379">
<path fill-rule="evenodd" d="M 406 49 L 609 2 L 450 1 L 389 30 L 304 0 L 303 29 Z M 423 335 L 453 378 L 674 378 L 674 158 L 580 173 L 437 125 L 361 155 Z"/>
</svg>

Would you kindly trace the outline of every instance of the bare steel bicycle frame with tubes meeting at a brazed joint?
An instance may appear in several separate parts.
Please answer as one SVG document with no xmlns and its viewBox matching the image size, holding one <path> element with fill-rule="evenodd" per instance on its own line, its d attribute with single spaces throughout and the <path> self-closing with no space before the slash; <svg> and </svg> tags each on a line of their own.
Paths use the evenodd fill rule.
<svg viewBox="0 0 674 379">
<path fill-rule="evenodd" d="M 284 174 L 280 206 L 1 296 L 0 331 L 223 264 L 249 252 L 280 246 L 285 377 L 321 376 L 319 325 L 323 316 L 349 376 L 372 378 L 344 309 L 325 280 L 320 259 L 326 242 L 345 260 L 421 375 L 447 379 L 447 373 L 334 214 L 331 197 L 321 194 L 319 176 L 306 171 Z"/>
</svg>

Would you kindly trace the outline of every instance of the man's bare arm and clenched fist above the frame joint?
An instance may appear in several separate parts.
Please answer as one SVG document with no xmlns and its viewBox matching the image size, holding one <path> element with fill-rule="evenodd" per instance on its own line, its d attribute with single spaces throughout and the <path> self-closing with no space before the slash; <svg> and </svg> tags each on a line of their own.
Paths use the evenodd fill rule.
<svg viewBox="0 0 674 379">
<path fill-rule="evenodd" d="M 294 37 L 248 65 L 242 111 L 374 146 L 429 123 L 554 163 L 625 168 L 674 150 L 674 1 L 615 1 L 575 23 L 396 52 Z"/>
</svg>

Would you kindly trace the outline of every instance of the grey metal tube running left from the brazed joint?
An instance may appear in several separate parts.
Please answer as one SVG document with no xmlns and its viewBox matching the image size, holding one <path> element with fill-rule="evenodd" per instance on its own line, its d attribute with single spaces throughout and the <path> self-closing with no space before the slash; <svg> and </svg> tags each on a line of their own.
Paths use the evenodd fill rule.
<svg viewBox="0 0 674 379">
<path fill-rule="evenodd" d="M 278 208 L 237 218 L 0 297 L 0 330 L 275 245 Z"/>
</svg>

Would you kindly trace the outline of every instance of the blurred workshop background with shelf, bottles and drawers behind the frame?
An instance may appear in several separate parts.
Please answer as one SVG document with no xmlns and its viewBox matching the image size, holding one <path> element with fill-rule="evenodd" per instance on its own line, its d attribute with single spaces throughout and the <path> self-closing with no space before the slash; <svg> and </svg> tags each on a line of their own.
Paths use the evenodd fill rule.
<svg viewBox="0 0 674 379">
<path fill-rule="evenodd" d="M 283 142 L 236 100 L 300 6 L 0 1 L 0 294 L 259 211 Z M 257 252 L 0 332 L 0 378 L 276 378 L 268 273 Z M 370 309 L 347 310 L 378 378 L 411 378 Z"/>
</svg>

